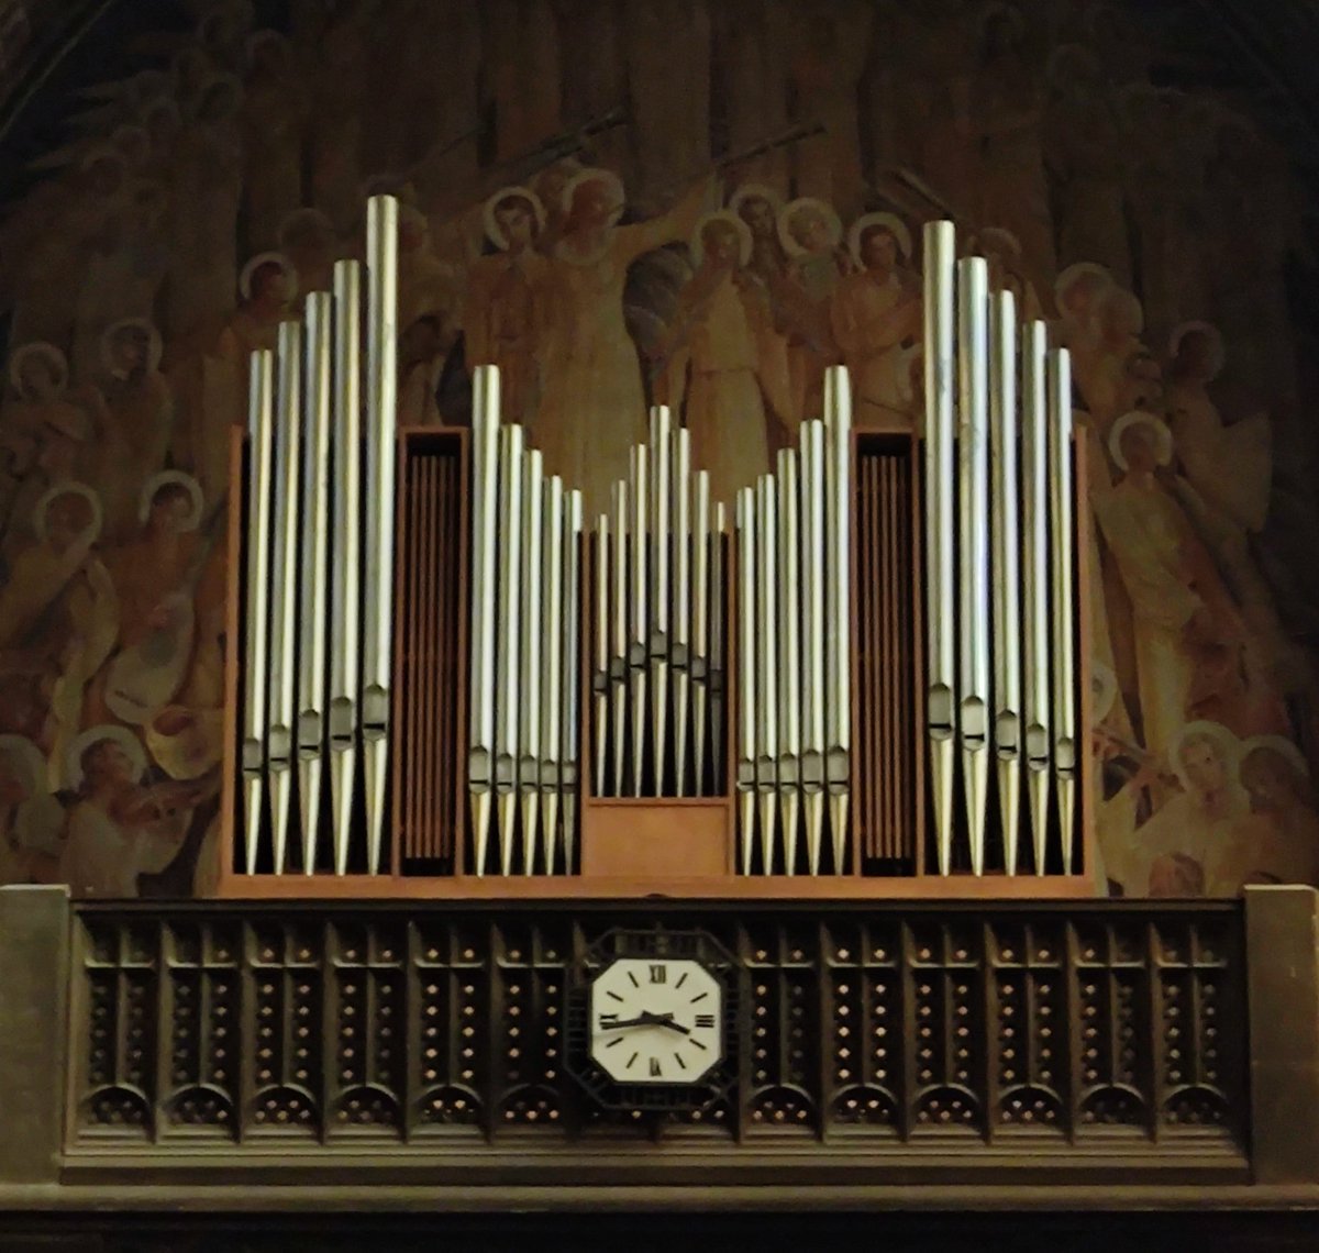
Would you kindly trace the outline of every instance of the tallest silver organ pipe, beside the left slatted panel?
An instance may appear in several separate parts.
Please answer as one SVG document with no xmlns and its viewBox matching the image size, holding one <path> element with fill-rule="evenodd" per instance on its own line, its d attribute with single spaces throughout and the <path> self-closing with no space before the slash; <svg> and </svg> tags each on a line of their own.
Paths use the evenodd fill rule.
<svg viewBox="0 0 1319 1253">
<path fill-rule="evenodd" d="M 398 200 L 367 202 L 367 611 L 361 648 L 361 736 L 367 869 L 380 871 L 389 762 L 389 673 L 394 615 L 394 434 L 398 421 Z"/>
</svg>

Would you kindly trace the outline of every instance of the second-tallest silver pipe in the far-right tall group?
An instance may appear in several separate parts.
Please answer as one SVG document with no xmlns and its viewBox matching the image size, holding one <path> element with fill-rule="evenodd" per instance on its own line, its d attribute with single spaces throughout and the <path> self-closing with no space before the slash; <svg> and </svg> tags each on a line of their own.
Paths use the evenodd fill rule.
<svg viewBox="0 0 1319 1253">
<path fill-rule="evenodd" d="M 958 262 L 958 743 L 971 871 L 984 873 L 989 782 L 989 266 Z"/>
</svg>

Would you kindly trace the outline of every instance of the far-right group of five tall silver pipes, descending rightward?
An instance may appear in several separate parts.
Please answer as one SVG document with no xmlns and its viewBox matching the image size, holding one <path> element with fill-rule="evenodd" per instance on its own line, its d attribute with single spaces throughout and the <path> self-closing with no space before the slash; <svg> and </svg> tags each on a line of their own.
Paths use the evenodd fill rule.
<svg viewBox="0 0 1319 1253">
<path fill-rule="evenodd" d="M 963 852 L 975 874 L 991 856 L 1021 873 L 1024 828 L 1035 873 L 1076 869 L 1071 364 L 1043 322 L 1017 340 L 1013 294 L 989 290 L 983 257 L 956 260 L 951 222 L 927 223 L 926 720 L 940 874 Z"/>
</svg>

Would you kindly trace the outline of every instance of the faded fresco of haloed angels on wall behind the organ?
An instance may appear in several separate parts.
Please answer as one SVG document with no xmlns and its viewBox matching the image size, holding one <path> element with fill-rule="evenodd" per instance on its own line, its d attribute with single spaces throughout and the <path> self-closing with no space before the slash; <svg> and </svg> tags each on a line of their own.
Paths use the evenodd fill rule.
<svg viewBox="0 0 1319 1253">
<path fill-rule="evenodd" d="M 831 364 L 860 425 L 918 422 L 921 223 L 954 216 L 1074 356 L 1111 890 L 1319 881 L 1294 189 L 1249 116 L 1151 86 L 1124 8 L 189 12 L 0 226 L 0 881 L 206 890 L 245 360 L 361 255 L 373 191 L 400 421 L 466 422 L 495 361 L 588 510 L 654 401 L 725 500 Z"/>
</svg>

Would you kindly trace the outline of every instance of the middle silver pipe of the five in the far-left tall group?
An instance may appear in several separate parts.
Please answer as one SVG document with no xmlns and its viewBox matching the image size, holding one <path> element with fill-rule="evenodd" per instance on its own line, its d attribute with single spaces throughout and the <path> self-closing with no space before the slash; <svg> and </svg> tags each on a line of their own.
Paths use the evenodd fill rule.
<svg viewBox="0 0 1319 1253">
<path fill-rule="evenodd" d="M 307 295 L 303 336 L 302 570 L 298 597 L 297 753 L 302 869 L 315 873 L 326 740 L 326 630 L 330 578 L 330 388 L 334 298 Z"/>
</svg>

